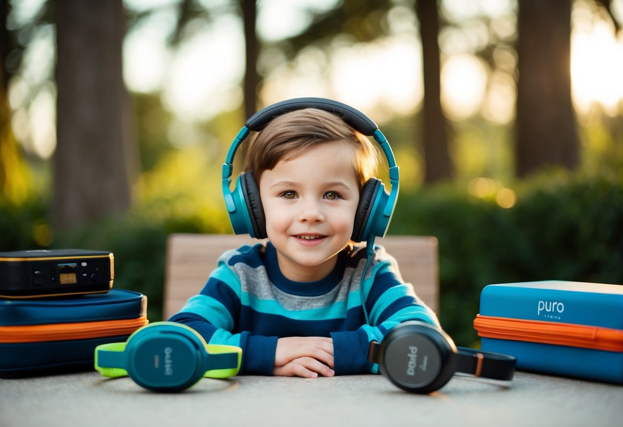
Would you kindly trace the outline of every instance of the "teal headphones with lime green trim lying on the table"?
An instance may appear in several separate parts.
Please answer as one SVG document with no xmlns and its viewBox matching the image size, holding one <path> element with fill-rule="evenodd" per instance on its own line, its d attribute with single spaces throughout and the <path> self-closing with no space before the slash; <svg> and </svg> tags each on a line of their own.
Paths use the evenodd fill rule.
<svg viewBox="0 0 623 427">
<path fill-rule="evenodd" d="M 233 377 L 241 359 L 240 347 L 207 344 L 194 329 L 174 322 L 151 323 L 126 342 L 95 347 L 95 369 L 103 376 L 128 375 L 157 392 L 178 392 L 203 377 Z"/>
</svg>

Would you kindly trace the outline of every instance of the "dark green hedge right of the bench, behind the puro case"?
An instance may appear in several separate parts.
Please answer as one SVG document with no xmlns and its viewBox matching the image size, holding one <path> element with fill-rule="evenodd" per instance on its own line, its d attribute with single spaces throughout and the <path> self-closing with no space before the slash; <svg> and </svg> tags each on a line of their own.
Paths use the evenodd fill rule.
<svg viewBox="0 0 623 427">
<path fill-rule="evenodd" d="M 503 209 L 455 186 L 401 194 L 392 234 L 439 240 L 440 321 L 457 344 L 492 283 L 571 280 L 623 284 L 623 181 L 548 176 L 518 184 Z M 417 285 L 416 285 L 417 292 Z"/>
</svg>

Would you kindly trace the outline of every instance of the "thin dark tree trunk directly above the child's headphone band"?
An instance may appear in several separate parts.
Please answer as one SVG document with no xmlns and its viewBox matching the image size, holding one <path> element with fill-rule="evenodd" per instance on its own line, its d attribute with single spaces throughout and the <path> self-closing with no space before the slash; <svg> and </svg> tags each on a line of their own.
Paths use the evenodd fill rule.
<svg viewBox="0 0 623 427">
<path fill-rule="evenodd" d="M 257 34 L 255 32 L 255 19 L 257 17 L 257 4 L 255 0 L 240 1 L 242 21 L 244 26 L 245 59 L 244 73 L 244 115 L 245 120 L 257 111 Z"/>
</svg>

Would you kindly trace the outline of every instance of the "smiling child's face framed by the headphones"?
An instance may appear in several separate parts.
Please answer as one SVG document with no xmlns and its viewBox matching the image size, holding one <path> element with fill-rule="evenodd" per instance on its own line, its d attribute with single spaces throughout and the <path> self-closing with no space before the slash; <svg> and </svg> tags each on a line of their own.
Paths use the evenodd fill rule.
<svg viewBox="0 0 623 427">
<path fill-rule="evenodd" d="M 349 242 L 359 203 L 352 156 L 349 146 L 320 144 L 262 173 L 266 232 L 288 279 L 324 278 Z"/>
</svg>

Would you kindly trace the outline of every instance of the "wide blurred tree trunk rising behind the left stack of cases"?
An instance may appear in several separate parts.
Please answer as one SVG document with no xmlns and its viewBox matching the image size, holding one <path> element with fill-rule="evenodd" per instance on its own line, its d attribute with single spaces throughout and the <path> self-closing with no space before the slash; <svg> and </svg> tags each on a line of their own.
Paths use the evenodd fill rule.
<svg viewBox="0 0 623 427">
<path fill-rule="evenodd" d="M 121 0 L 54 2 L 57 22 L 55 225 L 124 212 L 138 169 L 121 75 Z"/>
</svg>

